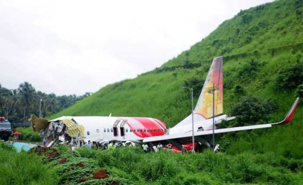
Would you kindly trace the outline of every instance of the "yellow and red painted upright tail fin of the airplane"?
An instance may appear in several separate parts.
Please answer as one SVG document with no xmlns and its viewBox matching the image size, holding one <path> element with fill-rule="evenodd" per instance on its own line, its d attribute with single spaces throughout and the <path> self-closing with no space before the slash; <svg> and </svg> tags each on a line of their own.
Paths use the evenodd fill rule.
<svg viewBox="0 0 303 185">
<path fill-rule="evenodd" d="M 214 58 L 204 82 L 194 113 L 205 119 L 213 116 L 213 94 L 215 95 L 215 116 L 223 113 L 223 57 Z"/>
</svg>

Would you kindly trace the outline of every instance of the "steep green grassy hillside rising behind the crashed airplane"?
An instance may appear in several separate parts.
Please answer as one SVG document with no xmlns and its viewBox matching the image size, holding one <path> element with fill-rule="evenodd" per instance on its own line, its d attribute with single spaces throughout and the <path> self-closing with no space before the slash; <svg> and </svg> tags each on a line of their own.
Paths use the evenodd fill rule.
<svg viewBox="0 0 303 185">
<path fill-rule="evenodd" d="M 299 85 L 303 83 L 303 0 L 277 0 L 240 11 L 161 67 L 135 79 L 107 85 L 51 118 L 112 113 L 154 117 L 164 121 L 167 128 L 172 127 L 191 112 L 189 92 L 180 86 L 193 86 L 196 102 L 212 58 L 221 55 L 224 112 L 230 113 L 240 97 L 254 95 L 277 101 L 278 109 L 270 121 L 282 120 L 300 95 L 300 88 L 302 95 Z M 301 104 L 289 125 L 239 132 L 221 142 L 230 154 L 275 152 L 302 159 L 302 131 Z"/>
</svg>

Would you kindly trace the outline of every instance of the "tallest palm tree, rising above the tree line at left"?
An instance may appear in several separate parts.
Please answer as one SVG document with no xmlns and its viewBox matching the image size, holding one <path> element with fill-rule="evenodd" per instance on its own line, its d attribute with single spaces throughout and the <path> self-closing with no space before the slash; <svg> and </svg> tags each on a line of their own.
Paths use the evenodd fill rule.
<svg viewBox="0 0 303 185">
<path fill-rule="evenodd" d="M 18 103 L 24 107 L 23 122 L 25 123 L 27 109 L 33 107 L 34 104 L 37 103 L 37 94 L 35 88 L 27 81 L 21 83 L 18 90 Z"/>
</svg>

